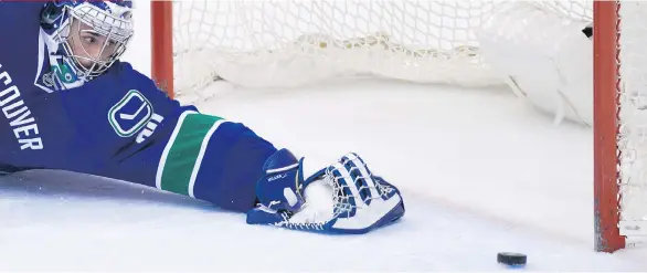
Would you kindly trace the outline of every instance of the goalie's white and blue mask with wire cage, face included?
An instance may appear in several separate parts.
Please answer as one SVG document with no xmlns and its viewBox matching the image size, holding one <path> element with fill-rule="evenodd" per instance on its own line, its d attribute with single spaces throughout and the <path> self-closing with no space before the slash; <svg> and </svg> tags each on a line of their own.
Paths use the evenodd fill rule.
<svg viewBox="0 0 647 273">
<path fill-rule="evenodd" d="M 76 77 L 91 81 L 126 51 L 132 30 L 130 1 L 66 1 L 45 6 L 43 29 L 60 44 Z"/>
</svg>

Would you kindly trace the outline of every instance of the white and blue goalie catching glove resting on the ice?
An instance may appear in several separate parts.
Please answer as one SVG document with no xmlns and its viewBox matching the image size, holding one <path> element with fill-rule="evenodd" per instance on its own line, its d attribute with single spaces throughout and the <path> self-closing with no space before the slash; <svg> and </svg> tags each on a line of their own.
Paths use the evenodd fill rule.
<svg viewBox="0 0 647 273">
<path fill-rule="evenodd" d="M 247 223 L 322 233 L 365 233 L 404 216 L 397 188 L 349 154 L 304 179 L 304 158 L 280 149 L 256 185 L 258 203 Z"/>
</svg>

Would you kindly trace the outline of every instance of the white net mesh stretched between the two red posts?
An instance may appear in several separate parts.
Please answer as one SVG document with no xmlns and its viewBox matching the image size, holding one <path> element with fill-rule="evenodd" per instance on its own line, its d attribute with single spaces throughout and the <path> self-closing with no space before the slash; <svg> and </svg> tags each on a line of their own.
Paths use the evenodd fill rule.
<svg viewBox="0 0 647 273">
<path fill-rule="evenodd" d="M 294 86 L 372 74 L 423 83 L 501 84 L 475 30 L 508 1 L 176 1 L 179 95 L 218 76 L 245 86 Z M 585 1 L 538 1 L 591 21 Z"/>
</svg>

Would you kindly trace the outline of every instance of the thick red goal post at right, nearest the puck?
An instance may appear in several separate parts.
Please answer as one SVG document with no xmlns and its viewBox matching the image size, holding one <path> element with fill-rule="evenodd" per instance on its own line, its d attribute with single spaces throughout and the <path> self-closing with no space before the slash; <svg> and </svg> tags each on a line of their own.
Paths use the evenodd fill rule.
<svg viewBox="0 0 647 273">
<path fill-rule="evenodd" d="M 619 18 L 616 1 L 593 6 L 594 78 L 594 231 L 595 250 L 613 252 L 625 246 L 619 234 L 618 115 Z"/>
</svg>

